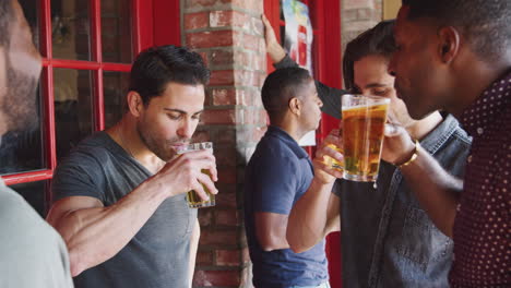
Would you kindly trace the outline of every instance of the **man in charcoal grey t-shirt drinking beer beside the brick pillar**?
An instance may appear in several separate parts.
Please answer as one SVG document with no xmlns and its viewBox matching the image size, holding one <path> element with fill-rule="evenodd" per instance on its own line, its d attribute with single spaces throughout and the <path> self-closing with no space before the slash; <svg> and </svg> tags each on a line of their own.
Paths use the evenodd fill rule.
<svg viewBox="0 0 511 288">
<path fill-rule="evenodd" d="M 200 228 L 185 193 L 216 193 L 216 166 L 210 151 L 176 151 L 199 124 L 209 79 L 187 48 L 142 51 L 123 118 L 57 167 L 48 221 L 68 244 L 76 287 L 190 287 Z"/>
</svg>

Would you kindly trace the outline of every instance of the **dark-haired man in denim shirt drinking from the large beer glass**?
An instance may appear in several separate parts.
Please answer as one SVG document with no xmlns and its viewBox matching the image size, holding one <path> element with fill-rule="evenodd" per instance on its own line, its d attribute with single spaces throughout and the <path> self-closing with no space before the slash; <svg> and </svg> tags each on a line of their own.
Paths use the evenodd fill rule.
<svg viewBox="0 0 511 288">
<path fill-rule="evenodd" d="M 347 45 L 344 57 L 346 87 L 360 94 L 391 98 L 391 115 L 414 139 L 420 140 L 423 147 L 445 169 L 462 175 L 470 139 L 456 120 L 452 116 L 442 119 L 435 112 L 414 121 L 404 103 L 395 96 L 394 79 L 387 73 L 394 50 L 392 26 L 393 22 L 380 23 Z M 317 167 L 320 167 L 324 153 L 334 156 L 325 146 L 336 142 L 335 139 L 331 134 L 319 148 L 314 160 Z M 333 173 L 329 167 L 323 168 Z M 316 175 L 320 173 L 317 169 Z M 309 193 L 297 202 L 287 232 L 292 249 L 308 249 L 316 240 L 310 227 L 321 229 L 322 223 L 328 220 L 325 213 L 337 208 L 345 287 L 448 286 L 452 241 L 432 225 L 395 165 L 382 161 L 376 185 L 337 180 L 333 193 L 336 196 Z M 324 216 L 320 219 L 310 217 L 318 214 Z"/>
</svg>

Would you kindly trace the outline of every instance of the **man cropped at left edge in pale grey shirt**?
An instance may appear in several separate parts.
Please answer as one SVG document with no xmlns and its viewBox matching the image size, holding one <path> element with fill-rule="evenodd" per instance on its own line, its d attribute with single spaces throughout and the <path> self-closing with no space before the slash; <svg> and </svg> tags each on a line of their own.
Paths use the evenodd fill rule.
<svg viewBox="0 0 511 288">
<path fill-rule="evenodd" d="M 0 1 L 0 142 L 5 132 L 35 124 L 39 73 L 40 56 L 20 4 Z M 0 287 L 73 287 L 62 238 L 1 178 Z"/>
</svg>

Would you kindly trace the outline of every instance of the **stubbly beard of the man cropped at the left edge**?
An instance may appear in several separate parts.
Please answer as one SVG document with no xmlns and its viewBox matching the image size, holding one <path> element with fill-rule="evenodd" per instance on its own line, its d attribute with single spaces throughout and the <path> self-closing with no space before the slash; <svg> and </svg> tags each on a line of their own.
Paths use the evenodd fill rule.
<svg viewBox="0 0 511 288">
<path fill-rule="evenodd" d="M 0 112 L 5 116 L 8 131 L 36 129 L 39 122 L 35 97 L 38 79 L 13 69 L 7 59 L 8 87 Z"/>
</svg>

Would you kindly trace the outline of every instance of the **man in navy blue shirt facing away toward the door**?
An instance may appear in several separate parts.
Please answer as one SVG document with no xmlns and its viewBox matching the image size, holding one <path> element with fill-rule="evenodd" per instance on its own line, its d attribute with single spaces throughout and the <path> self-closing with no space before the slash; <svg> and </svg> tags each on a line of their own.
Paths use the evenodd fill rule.
<svg viewBox="0 0 511 288">
<path fill-rule="evenodd" d="M 295 253 L 286 240 L 294 203 L 311 187 L 313 167 L 298 141 L 316 130 L 322 101 L 301 68 L 271 73 L 262 87 L 270 127 L 250 159 L 245 180 L 246 230 L 255 287 L 330 287 L 324 240 Z M 325 229 L 338 230 L 338 217 Z"/>
</svg>

